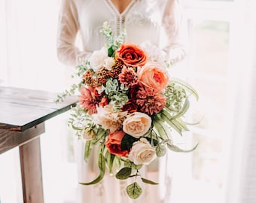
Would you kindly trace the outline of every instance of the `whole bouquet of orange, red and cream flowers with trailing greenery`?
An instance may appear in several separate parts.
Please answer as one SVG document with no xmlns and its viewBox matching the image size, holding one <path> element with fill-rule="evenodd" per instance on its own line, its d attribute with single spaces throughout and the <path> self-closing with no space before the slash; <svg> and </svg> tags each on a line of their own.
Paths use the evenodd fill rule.
<svg viewBox="0 0 256 203">
<path fill-rule="evenodd" d="M 98 147 L 98 183 L 109 173 L 117 179 L 140 177 L 139 169 L 154 159 L 165 156 L 166 149 L 182 150 L 172 141 L 172 131 L 187 131 L 181 119 L 189 108 L 189 95 L 198 99 L 196 90 L 181 80 L 169 78 L 169 64 L 152 44 L 123 43 L 125 30 L 114 38 L 108 23 L 102 26 L 108 44 L 92 53 L 78 65 L 79 84 L 72 85 L 66 95 L 80 91 L 79 102 L 72 108 L 69 125 L 78 138 L 84 139 L 84 159 Z M 141 177 L 142 182 L 157 184 Z M 135 181 L 126 187 L 130 198 L 138 198 L 142 188 Z"/>
</svg>

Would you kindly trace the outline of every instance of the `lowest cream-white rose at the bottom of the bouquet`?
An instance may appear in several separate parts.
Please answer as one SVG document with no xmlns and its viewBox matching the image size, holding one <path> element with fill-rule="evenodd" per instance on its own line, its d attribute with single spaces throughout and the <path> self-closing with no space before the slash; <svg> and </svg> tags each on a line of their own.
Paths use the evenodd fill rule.
<svg viewBox="0 0 256 203">
<path fill-rule="evenodd" d="M 128 159 L 136 165 L 148 165 L 156 157 L 156 150 L 154 150 L 154 147 L 151 146 L 146 138 L 140 138 L 139 141 L 134 142 L 132 150 L 130 150 L 128 155 Z"/>
</svg>

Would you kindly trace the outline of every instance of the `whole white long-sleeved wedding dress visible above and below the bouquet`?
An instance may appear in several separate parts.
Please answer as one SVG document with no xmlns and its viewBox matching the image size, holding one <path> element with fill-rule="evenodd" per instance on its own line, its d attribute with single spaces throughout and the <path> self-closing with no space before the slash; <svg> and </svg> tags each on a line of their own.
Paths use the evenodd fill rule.
<svg viewBox="0 0 256 203">
<path fill-rule="evenodd" d="M 170 60 L 178 62 L 183 59 L 185 53 L 179 11 L 178 2 L 175 0 L 132 0 L 121 14 L 111 0 L 62 0 L 57 44 L 59 60 L 75 68 L 81 59 L 87 59 L 94 50 L 100 50 L 105 44 L 105 38 L 99 30 L 103 22 L 108 21 L 114 35 L 118 35 L 121 29 L 126 29 L 125 41 L 136 44 L 150 41 L 164 50 Z M 78 36 L 81 36 L 81 44 L 77 46 Z M 86 163 L 84 143 L 78 141 L 76 147 L 78 182 L 94 180 L 99 173 L 95 154 L 92 154 Z M 78 186 L 78 202 L 169 202 L 172 173 L 169 167 L 171 164 L 166 162 L 166 159 L 168 156 L 141 169 L 142 177 L 160 184 L 155 186 L 139 183 L 143 192 L 136 200 L 126 195 L 126 186 L 134 180 L 117 180 L 106 171 L 100 183 Z"/>
</svg>

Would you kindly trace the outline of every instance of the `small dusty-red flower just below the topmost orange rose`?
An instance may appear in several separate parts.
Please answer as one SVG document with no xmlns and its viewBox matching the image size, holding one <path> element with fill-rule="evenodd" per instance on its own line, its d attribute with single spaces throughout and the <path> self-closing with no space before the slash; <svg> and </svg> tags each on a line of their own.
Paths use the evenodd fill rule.
<svg viewBox="0 0 256 203">
<path fill-rule="evenodd" d="M 122 71 L 118 77 L 120 83 L 125 86 L 134 86 L 138 83 L 138 77 L 132 67 L 126 67 L 123 65 Z"/>
</svg>

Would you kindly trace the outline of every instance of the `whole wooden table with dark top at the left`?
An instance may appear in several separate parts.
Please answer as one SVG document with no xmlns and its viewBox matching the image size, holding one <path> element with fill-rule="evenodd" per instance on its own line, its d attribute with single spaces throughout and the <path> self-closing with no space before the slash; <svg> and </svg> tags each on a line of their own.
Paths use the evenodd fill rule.
<svg viewBox="0 0 256 203">
<path fill-rule="evenodd" d="M 0 154 L 20 148 L 23 201 L 43 203 L 40 135 L 44 122 L 68 111 L 78 98 L 56 104 L 56 93 L 0 86 Z"/>
</svg>

